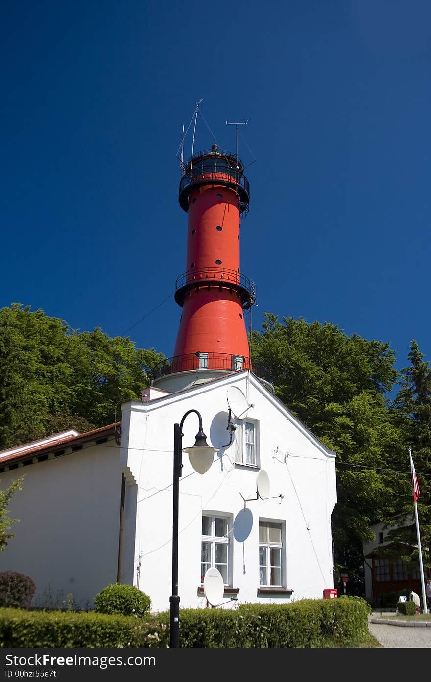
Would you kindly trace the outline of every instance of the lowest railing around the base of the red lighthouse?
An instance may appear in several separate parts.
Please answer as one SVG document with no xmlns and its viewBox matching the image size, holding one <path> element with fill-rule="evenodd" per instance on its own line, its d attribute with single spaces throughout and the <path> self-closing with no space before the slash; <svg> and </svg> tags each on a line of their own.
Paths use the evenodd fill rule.
<svg viewBox="0 0 431 682">
<path fill-rule="evenodd" d="M 161 360 L 153 370 L 150 377 L 152 381 L 161 376 L 168 376 L 176 372 L 191 372 L 193 370 L 221 370 L 225 372 L 242 372 L 249 370 L 250 358 L 244 355 L 230 355 L 228 353 L 187 353 L 187 355 L 175 355 Z"/>
</svg>

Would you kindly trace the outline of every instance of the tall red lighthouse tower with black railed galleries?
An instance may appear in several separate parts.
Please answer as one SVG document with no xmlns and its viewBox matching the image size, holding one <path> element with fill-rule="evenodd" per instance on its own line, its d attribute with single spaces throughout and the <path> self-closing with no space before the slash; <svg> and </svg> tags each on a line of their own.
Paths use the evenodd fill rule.
<svg viewBox="0 0 431 682">
<path fill-rule="evenodd" d="M 182 166 L 178 201 L 188 216 L 187 256 L 175 286 L 182 314 L 174 356 L 153 372 L 160 389 L 251 369 L 244 310 L 253 304 L 254 286 L 240 270 L 240 221 L 249 198 L 238 153 L 214 143 Z"/>
</svg>

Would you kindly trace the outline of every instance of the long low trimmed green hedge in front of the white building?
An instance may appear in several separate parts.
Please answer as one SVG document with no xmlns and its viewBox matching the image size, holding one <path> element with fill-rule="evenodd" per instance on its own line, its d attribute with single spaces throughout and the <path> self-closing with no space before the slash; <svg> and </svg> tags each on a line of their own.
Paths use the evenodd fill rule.
<svg viewBox="0 0 431 682">
<path fill-rule="evenodd" d="M 242 604 L 236 609 L 180 610 L 180 646 L 347 646 L 368 635 L 370 607 L 361 597 Z M 127 617 L 0 609 L 3 647 L 168 647 L 170 614 Z"/>
</svg>

